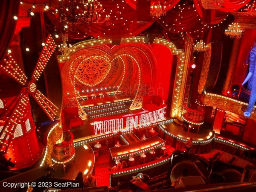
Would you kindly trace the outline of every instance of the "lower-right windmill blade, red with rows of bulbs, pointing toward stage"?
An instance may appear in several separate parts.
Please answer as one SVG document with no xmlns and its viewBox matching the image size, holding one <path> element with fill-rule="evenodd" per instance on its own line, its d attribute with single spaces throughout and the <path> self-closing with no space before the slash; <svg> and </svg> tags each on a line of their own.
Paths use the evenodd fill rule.
<svg viewBox="0 0 256 192">
<path fill-rule="evenodd" d="M 41 93 L 39 90 L 35 90 L 35 93 L 32 94 L 38 105 L 44 110 L 47 114 L 49 119 L 52 121 L 54 120 L 55 116 L 57 115 L 58 108 L 46 97 Z"/>
</svg>

